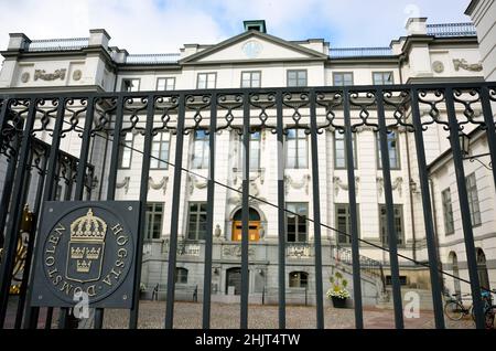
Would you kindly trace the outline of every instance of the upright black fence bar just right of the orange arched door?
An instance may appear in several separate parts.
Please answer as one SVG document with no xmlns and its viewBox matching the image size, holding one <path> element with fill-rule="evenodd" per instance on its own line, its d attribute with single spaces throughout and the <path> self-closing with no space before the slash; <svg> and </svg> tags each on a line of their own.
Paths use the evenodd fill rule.
<svg viewBox="0 0 496 351">
<path fill-rule="evenodd" d="M 279 328 L 285 329 L 285 190 L 284 190 L 284 121 L 282 110 L 282 93 L 276 95 L 277 134 L 278 134 L 278 291 L 279 291 Z"/>
</svg>

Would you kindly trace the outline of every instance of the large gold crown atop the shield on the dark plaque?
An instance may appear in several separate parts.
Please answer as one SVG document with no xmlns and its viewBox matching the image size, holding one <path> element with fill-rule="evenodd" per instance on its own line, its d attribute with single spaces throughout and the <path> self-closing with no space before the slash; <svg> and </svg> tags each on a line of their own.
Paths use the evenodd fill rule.
<svg viewBox="0 0 496 351">
<path fill-rule="evenodd" d="M 107 223 L 105 223 L 105 221 L 100 217 L 95 216 L 91 209 L 88 210 L 85 216 L 78 217 L 71 224 L 71 241 L 104 242 L 106 233 Z M 80 254 L 83 255 L 84 252 Z M 98 253 L 88 252 L 87 254 L 94 254 L 97 257 L 99 255 L 99 251 Z"/>
</svg>

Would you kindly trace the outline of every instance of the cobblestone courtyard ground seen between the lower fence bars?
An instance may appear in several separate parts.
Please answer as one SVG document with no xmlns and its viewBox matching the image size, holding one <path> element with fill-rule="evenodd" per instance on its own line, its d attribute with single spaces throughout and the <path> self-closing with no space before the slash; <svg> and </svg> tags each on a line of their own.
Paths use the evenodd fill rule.
<svg viewBox="0 0 496 351">
<path fill-rule="evenodd" d="M 9 313 L 6 328 L 13 328 L 15 313 L 15 302 L 9 304 Z M 41 310 L 39 328 L 44 328 L 45 309 Z M 141 301 L 139 328 L 158 329 L 164 327 L 165 302 L 164 301 Z M 354 310 L 334 309 L 330 305 L 324 311 L 326 329 L 353 329 Z M 129 312 L 127 310 L 107 309 L 105 312 L 104 328 L 118 329 L 127 328 Z M 277 306 L 249 306 L 248 320 L 250 329 L 277 329 L 278 307 Z M 239 305 L 238 304 L 212 304 L 212 328 L 213 329 L 237 329 L 239 328 Z M 53 317 L 53 328 L 57 323 L 57 309 Z M 366 329 L 392 329 L 395 328 L 393 311 L 389 309 L 364 310 L 364 323 Z M 314 329 L 315 307 L 288 306 L 287 328 L 288 329 Z M 421 311 L 420 318 L 405 319 L 408 329 L 432 329 L 434 328 L 434 317 L 432 311 Z M 452 329 L 473 329 L 471 319 L 461 321 L 446 320 L 446 327 Z M 174 328 L 179 329 L 201 329 L 202 328 L 202 304 L 176 302 L 174 308 Z"/>
</svg>

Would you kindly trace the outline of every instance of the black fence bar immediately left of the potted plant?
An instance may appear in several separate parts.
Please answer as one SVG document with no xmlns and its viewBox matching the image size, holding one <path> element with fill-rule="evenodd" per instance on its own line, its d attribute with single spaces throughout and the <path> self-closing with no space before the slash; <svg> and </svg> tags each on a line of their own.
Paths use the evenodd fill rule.
<svg viewBox="0 0 496 351">
<path fill-rule="evenodd" d="M 313 231 L 315 245 L 315 304 L 316 328 L 324 329 L 324 297 L 322 286 L 322 235 L 321 235 L 321 196 L 319 190 L 319 149 L 315 91 L 310 91 L 310 139 L 312 149 L 312 200 Z"/>
</svg>

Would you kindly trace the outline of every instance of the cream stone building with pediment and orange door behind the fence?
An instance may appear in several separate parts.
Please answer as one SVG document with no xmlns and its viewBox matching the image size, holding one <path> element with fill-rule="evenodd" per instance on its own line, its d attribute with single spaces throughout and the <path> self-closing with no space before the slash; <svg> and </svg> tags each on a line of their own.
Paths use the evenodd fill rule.
<svg viewBox="0 0 496 351">
<path fill-rule="evenodd" d="M 483 1 L 484 2 L 484 1 Z M 490 2 L 490 1 L 489 1 Z M 494 6 L 493 6 L 494 8 Z M 373 86 L 418 83 L 464 83 L 484 81 L 487 70 L 470 23 L 428 24 L 427 19 L 410 19 L 406 35 L 393 40 L 389 47 L 334 49 L 324 40 L 285 41 L 267 33 L 265 22 L 246 22 L 242 33 L 215 45 L 186 44 L 179 53 L 132 55 L 110 46 L 105 30 L 91 30 L 89 38 L 67 40 L 30 40 L 25 34 L 10 34 L 9 46 L 0 72 L 0 93 L 58 92 L 149 92 L 183 89 L 266 88 L 287 86 Z M 486 41 L 493 43 L 494 36 Z M 487 45 L 487 44 L 485 44 Z M 490 60 L 490 59 L 487 59 Z M 486 73 L 490 78 L 492 73 Z M 429 110 L 422 110 L 428 114 Z M 443 113 L 443 111 L 441 111 Z M 445 113 L 445 111 L 444 111 Z M 476 114 L 481 115 L 481 111 Z M 303 118 L 303 121 L 308 119 Z M 290 120 L 287 120 L 290 124 Z M 205 125 L 207 126 L 207 125 Z M 449 162 L 450 143 L 441 127 L 424 134 L 427 161 L 430 164 L 435 234 L 443 269 L 467 276 L 463 232 L 455 192 L 455 177 Z M 473 152 L 487 152 L 485 136 L 471 134 Z M 42 137 L 43 138 L 43 137 Z M 240 189 L 241 147 L 235 131 L 217 135 L 216 180 Z M 186 136 L 183 167 L 202 177 L 207 176 L 207 136 L 202 131 Z M 127 146 L 141 150 L 143 139 L 127 134 Z M 314 301 L 313 224 L 300 221 L 313 219 L 311 160 L 309 138 L 298 130 L 287 137 L 291 151 L 285 159 L 285 201 L 288 209 L 301 217 L 287 217 L 287 285 L 290 301 Z M 386 246 L 384 180 L 378 158 L 377 136 L 370 128 L 355 135 L 355 185 L 362 240 Z M 277 137 L 269 129 L 252 136 L 251 153 L 257 155 L 250 171 L 250 195 L 262 201 L 250 203 L 250 301 L 277 301 L 278 279 L 278 211 L 263 201 L 277 203 L 278 160 Z M 343 232 L 349 231 L 348 184 L 344 158 L 344 141 L 339 134 L 326 130 L 319 135 L 320 199 L 322 222 Z M 78 156 L 80 140 L 71 136 L 61 149 Z M 99 193 L 106 193 L 105 142 L 95 143 L 94 162 L 104 170 L 97 174 Z M 419 176 L 413 136 L 395 130 L 389 140 L 395 223 L 399 234 L 399 253 L 418 262 L 428 262 L 422 216 Z M 136 200 L 140 192 L 141 155 L 123 149 L 117 182 L 117 200 Z M 289 150 L 289 149 L 288 149 Z M 481 152 L 479 152 L 481 151 Z M 190 298 L 203 286 L 206 181 L 194 173 L 182 178 L 182 204 L 177 219 L 172 219 L 172 180 L 175 137 L 162 134 L 153 142 L 152 153 L 165 162 L 152 160 L 149 179 L 148 224 L 143 247 L 142 283 L 149 294 L 166 281 L 169 232 L 171 221 L 177 221 L 179 286 Z M 492 287 L 496 284 L 496 203 L 492 172 L 477 162 L 466 162 L 471 184 L 476 246 L 484 255 L 481 275 Z M 0 168 L 1 170 L 2 168 Z M 3 167 L 4 169 L 4 167 Z M 1 184 L 1 181 L 0 181 Z M 450 190 L 446 192 L 446 190 Z M 61 185 L 60 194 L 66 191 Z M 448 193 L 450 193 L 448 195 Z M 105 198 L 105 195 L 104 195 Z M 214 203 L 214 274 L 213 299 L 236 301 L 239 292 L 239 225 L 240 194 L 217 187 Z M 451 209 L 451 210 L 450 210 Z M 324 289 L 327 277 L 339 270 L 352 281 L 352 266 L 336 259 L 346 256 L 349 241 L 334 231 L 323 228 Z M 339 247 L 338 249 L 336 247 Z M 388 301 L 389 258 L 385 251 L 362 245 L 364 262 L 384 268 L 378 273 L 363 272 L 364 302 Z M 456 262 L 453 257 L 456 257 Z M 481 256 L 482 259 L 482 256 Z M 377 267 L 378 267 L 377 266 Z M 403 291 L 416 290 L 428 297 L 429 270 L 400 258 Z M 485 278 L 487 276 L 487 278 Z M 484 281 L 486 281 L 484 280 Z M 444 279 L 452 291 L 470 291 L 470 286 Z M 486 283 L 485 283 L 486 284 Z M 385 286 L 386 285 L 386 286 Z M 353 289 L 353 286 L 351 287 Z M 160 294 L 159 294 L 160 295 Z M 197 294 L 202 296 L 201 292 Z M 292 300 L 291 300 L 292 299 Z M 430 298 L 425 298 L 427 305 Z"/>
</svg>

